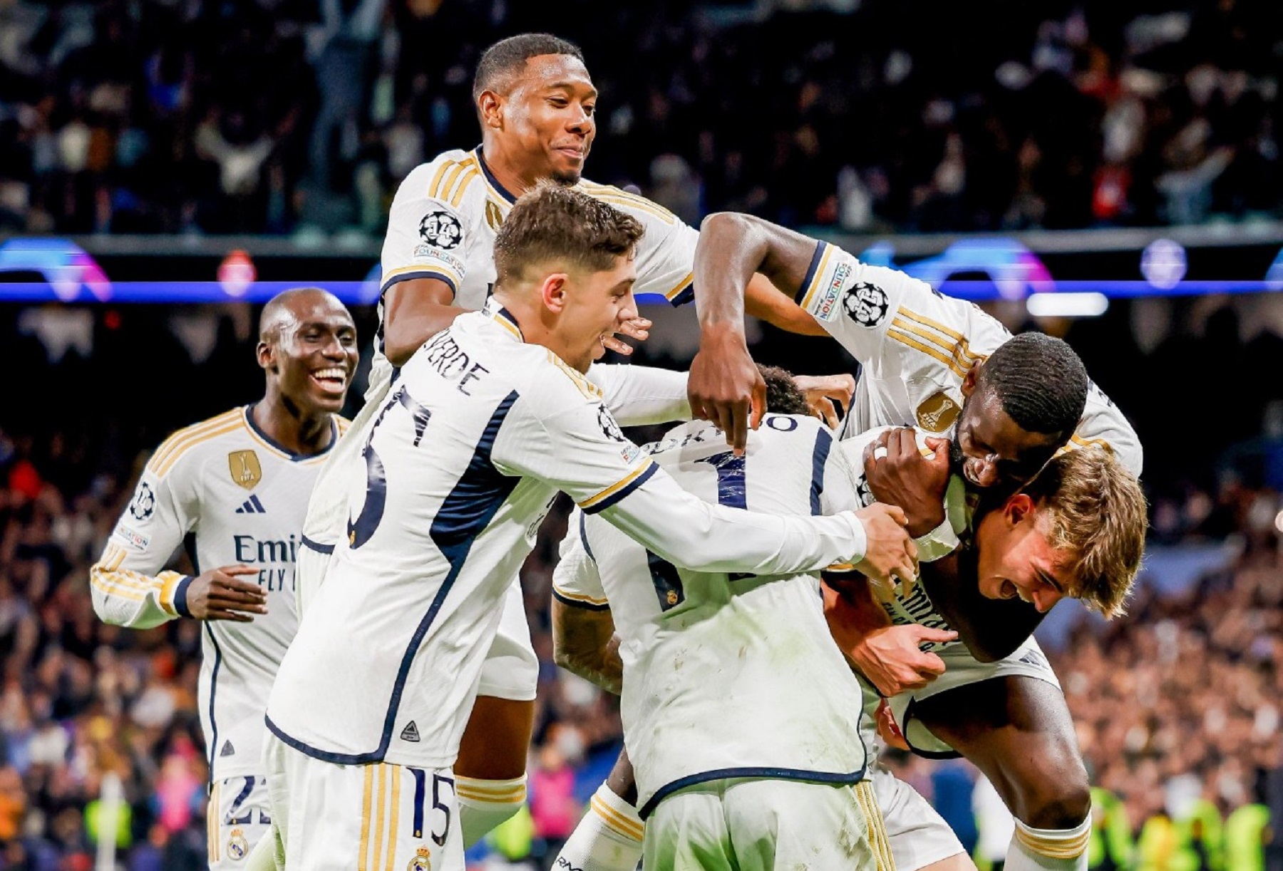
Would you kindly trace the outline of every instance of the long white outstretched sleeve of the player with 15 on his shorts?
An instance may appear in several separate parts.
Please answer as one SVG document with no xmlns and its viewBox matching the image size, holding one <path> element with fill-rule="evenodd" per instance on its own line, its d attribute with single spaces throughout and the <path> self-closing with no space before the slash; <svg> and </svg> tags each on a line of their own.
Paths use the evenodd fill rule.
<svg viewBox="0 0 1283 871">
<path fill-rule="evenodd" d="M 792 575 L 863 557 L 865 531 L 854 514 L 757 514 L 686 493 L 640 448 L 615 435 L 618 426 L 599 402 L 531 419 L 538 426 L 500 430 L 495 467 L 557 486 L 675 566 Z"/>
</svg>

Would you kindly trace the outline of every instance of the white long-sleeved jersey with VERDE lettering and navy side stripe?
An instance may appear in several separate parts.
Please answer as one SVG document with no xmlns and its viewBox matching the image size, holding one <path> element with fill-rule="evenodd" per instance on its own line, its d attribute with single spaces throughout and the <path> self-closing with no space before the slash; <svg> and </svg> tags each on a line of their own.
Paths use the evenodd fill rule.
<svg viewBox="0 0 1283 871">
<path fill-rule="evenodd" d="M 499 603 L 558 490 L 684 566 L 810 571 L 865 545 L 853 514 L 775 517 L 685 493 L 622 436 L 602 391 L 493 300 L 400 369 L 363 457 L 348 535 L 267 715 L 286 744 L 340 765 L 453 765 Z"/>
</svg>

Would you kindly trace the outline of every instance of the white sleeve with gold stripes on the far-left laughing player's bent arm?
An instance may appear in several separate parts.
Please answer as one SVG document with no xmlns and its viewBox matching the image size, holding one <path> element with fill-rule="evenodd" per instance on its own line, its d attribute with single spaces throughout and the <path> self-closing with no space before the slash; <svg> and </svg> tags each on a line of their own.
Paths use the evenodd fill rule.
<svg viewBox="0 0 1283 871">
<path fill-rule="evenodd" d="M 176 493 L 182 485 L 176 487 L 174 472 L 162 477 L 148 466 L 103 555 L 90 568 L 94 612 L 104 622 L 150 629 L 186 611 L 191 579 L 160 571 L 192 527 L 186 499 Z"/>
</svg>

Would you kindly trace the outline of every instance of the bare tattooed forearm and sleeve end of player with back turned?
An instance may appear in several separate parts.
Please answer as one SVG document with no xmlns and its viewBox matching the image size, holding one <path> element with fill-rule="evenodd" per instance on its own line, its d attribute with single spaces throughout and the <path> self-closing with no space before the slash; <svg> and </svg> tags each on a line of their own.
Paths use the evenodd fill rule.
<svg viewBox="0 0 1283 871">
<path fill-rule="evenodd" d="M 579 518 L 579 522 L 576 521 Z M 579 534 L 562 540 L 553 572 L 553 662 L 607 693 L 624 689 L 620 636 L 594 561 L 582 540 L 582 514 L 571 517 Z"/>
</svg>

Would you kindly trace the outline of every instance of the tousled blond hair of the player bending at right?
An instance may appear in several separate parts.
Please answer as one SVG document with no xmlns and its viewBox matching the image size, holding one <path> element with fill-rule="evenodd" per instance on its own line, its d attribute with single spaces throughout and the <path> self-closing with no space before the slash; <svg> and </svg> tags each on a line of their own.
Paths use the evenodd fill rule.
<svg viewBox="0 0 1283 871">
<path fill-rule="evenodd" d="M 1141 482 L 1106 448 L 1089 445 L 1051 459 L 1024 487 L 1052 548 L 1065 552 L 1065 590 L 1106 617 L 1126 613 L 1148 511 Z"/>
</svg>

